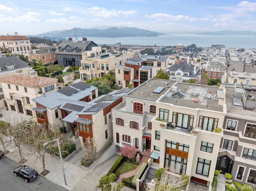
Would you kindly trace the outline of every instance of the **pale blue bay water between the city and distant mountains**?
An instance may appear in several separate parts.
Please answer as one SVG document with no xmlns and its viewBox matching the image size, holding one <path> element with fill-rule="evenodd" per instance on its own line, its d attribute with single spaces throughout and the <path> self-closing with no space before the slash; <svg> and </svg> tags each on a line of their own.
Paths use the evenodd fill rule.
<svg viewBox="0 0 256 191">
<path fill-rule="evenodd" d="M 195 35 L 195 34 L 171 34 L 158 37 L 87 37 L 98 45 L 149 45 L 168 46 L 183 44 L 188 46 L 196 44 L 197 47 L 210 47 L 212 45 L 225 45 L 227 48 L 256 48 L 256 36 L 254 35 Z M 78 37 L 82 40 L 82 37 Z"/>
</svg>

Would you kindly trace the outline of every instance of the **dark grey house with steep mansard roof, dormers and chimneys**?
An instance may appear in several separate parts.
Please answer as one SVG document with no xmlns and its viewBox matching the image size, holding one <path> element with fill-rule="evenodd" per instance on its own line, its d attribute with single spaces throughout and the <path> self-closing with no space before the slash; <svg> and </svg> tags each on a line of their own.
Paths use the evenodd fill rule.
<svg viewBox="0 0 256 191">
<path fill-rule="evenodd" d="M 73 41 L 72 38 L 68 38 L 68 41 L 62 41 L 56 48 L 58 64 L 81 66 L 82 53 L 92 50 L 92 47 L 98 47 L 98 45 L 93 41 L 88 41 L 87 38 L 83 38 L 82 41 Z M 101 53 L 101 47 L 98 47 L 97 50 Z"/>
</svg>

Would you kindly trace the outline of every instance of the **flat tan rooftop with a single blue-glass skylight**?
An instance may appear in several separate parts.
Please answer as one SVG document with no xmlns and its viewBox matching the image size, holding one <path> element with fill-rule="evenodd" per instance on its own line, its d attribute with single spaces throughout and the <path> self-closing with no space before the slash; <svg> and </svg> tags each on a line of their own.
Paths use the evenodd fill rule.
<svg viewBox="0 0 256 191">
<path fill-rule="evenodd" d="M 156 101 L 160 96 L 164 95 L 174 85 L 174 83 L 176 82 L 162 79 L 150 79 L 139 87 L 136 87 L 126 96 Z M 155 91 L 156 89 L 159 91 Z"/>
</svg>

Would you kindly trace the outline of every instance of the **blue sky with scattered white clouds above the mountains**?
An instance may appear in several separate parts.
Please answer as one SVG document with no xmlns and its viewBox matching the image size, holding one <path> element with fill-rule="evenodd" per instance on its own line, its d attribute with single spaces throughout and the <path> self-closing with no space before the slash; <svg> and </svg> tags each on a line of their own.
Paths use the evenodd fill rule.
<svg viewBox="0 0 256 191">
<path fill-rule="evenodd" d="M 252 30 L 256 0 L 5 0 L 0 35 L 127 26 L 156 32 Z"/>
</svg>

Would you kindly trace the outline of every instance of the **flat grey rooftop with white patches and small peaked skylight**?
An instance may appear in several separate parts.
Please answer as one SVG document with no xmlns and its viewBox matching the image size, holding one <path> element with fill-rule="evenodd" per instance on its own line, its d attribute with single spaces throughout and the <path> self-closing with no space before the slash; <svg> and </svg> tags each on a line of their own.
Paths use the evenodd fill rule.
<svg viewBox="0 0 256 191">
<path fill-rule="evenodd" d="M 173 87 L 160 102 L 174 104 L 175 106 L 223 112 L 223 106 L 218 105 L 218 91 L 223 93 L 223 90 L 219 89 L 219 87 L 188 83 L 177 83 L 175 86 L 177 89 Z"/>
</svg>

